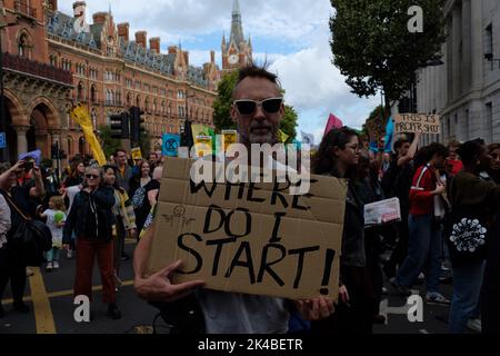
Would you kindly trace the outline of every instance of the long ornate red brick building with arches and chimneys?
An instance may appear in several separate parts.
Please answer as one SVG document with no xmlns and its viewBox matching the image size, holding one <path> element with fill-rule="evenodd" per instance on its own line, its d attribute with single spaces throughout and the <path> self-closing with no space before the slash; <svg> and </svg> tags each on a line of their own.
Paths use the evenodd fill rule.
<svg viewBox="0 0 500 356">
<path fill-rule="evenodd" d="M 212 125 L 220 79 L 213 51 L 202 68 L 191 66 L 188 51 L 172 46 L 161 53 L 159 38 L 132 36 L 110 11 L 89 21 L 83 1 L 73 3 L 73 14 L 58 11 L 57 0 L 4 0 L 1 7 L 10 159 L 36 148 L 49 157 L 54 141 L 69 157 L 89 152 L 69 118 L 71 101 L 86 106 L 96 131 L 111 113 L 140 107 L 152 146 L 187 118 Z"/>
</svg>

